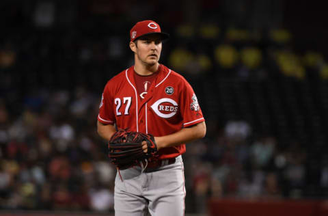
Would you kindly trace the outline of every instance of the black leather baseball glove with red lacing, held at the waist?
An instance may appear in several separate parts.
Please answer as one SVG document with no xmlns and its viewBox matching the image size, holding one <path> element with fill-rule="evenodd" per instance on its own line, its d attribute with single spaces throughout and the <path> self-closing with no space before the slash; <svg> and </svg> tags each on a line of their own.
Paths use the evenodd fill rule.
<svg viewBox="0 0 328 216">
<path fill-rule="evenodd" d="M 146 153 L 142 150 L 143 141 L 146 141 L 148 146 Z M 140 165 L 141 161 L 156 159 L 158 156 L 154 136 L 128 129 L 115 132 L 109 140 L 108 148 L 111 163 L 120 170 Z"/>
</svg>

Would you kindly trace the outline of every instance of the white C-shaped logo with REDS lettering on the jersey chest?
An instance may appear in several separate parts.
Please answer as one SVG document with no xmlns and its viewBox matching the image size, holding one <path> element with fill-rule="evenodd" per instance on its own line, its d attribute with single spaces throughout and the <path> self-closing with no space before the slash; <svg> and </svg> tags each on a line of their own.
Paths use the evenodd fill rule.
<svg viewBox="0 0 328 216">
<path fill-rule="evenodd" d="M 171 118 L 178 111 L 178 103 L 171 98 L 161 98 L 152 106 L 152 110 L 161 118 Z"/>
</svg>

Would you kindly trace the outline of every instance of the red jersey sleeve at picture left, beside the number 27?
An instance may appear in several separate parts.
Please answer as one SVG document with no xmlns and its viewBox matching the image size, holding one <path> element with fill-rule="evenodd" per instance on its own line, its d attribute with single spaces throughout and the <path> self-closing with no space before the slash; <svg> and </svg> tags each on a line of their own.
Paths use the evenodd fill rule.
<svg viewBox="0 0 328 216">
<path fill-rule="evenodd" d="M 99 105 L 98 121 L 102 124 L 114 124 L 115 114 L 113 111 L 113 96 L 108 87 L 108 83 L 102 92 L 101 101 Z"/>
</svg>

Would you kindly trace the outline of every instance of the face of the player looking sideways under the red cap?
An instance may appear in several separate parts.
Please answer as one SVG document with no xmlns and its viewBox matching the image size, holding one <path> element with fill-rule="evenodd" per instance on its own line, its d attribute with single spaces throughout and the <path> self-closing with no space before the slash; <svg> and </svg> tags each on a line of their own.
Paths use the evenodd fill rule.
<svg viewBox="0 0 328 216">
<path fill-rule="evenodd" d="M 150 35 L 137 40 L 135 53 L 143 64 L 153 66 L 159 62 L 162 51 L 162 40 L 159 36 Z"/>
</svg>

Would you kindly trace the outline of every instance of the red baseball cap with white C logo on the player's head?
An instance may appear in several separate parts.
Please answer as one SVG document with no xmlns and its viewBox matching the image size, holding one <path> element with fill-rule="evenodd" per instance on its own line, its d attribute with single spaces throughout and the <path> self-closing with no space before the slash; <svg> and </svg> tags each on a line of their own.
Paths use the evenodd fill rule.
<svg viewBox="0 0 328 216">
<path fill-rule="evenodd" d="M 161 27 L 159 27 L 159 24 L 157 24 L 156 22 L 140 21 L 136 23 L 130 30 L 130 39 L 133 42 L 141 36 L 146 36 L 153 33 L 161 36 L 162 40 L 166 40 L 167 38 L 169 38 L 169 34 L 162 32 Z"/>
</svg>

